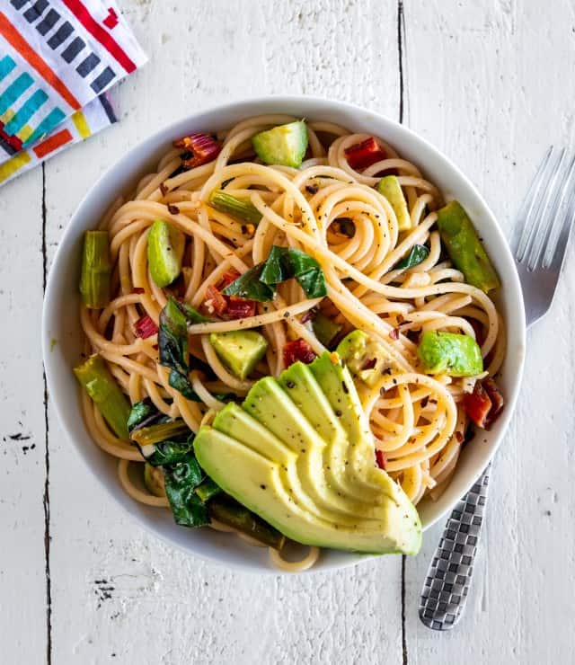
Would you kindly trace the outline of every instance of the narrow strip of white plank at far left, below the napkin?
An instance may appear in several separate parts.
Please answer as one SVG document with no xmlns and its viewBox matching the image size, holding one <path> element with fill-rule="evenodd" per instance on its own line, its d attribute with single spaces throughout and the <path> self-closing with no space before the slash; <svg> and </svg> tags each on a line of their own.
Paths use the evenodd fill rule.
<svg viewBox="0 0 575 665">
<path fill-rule="evenodd" d="M 2 188 L 0 218 L 0 642 L 9 661 L 42 662 L 47 616 L 46 437 L 38 338 L 43 282 L 41 169 Z"/>
</svg>

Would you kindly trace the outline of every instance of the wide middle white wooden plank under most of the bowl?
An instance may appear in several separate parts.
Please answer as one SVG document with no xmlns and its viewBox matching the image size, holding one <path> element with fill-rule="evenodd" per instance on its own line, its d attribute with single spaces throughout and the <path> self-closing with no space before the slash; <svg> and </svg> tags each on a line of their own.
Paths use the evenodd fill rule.
<svg viewBox="0 0 575 665">
<path fill-rule="evenodd" d="M 151 62 L 121 85 L 120 125 L 47 166 L 50 244 L 107 164 L 201 107 L 315 93 L 397 117 L 395 0 L 123 4 Z M 126 518 L 49 422 L 54 662 L 402 661 L 401 560 L 301 578 L 203 563 Z"/>
</svg>

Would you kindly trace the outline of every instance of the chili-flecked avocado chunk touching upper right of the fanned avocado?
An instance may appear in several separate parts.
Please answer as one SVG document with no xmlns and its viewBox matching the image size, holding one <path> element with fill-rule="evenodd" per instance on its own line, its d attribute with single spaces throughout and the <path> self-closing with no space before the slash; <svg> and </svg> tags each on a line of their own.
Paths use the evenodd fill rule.
<svg viewBox="0 0 575 665">
<path fill-rule="evenodd" d="M 382 376 L 397 369 L 383 345 L 362 330 L 349 332 L 338 344 L 337 353 L 351 374 L 367 386 L 375 386 Z"/>
</svg>

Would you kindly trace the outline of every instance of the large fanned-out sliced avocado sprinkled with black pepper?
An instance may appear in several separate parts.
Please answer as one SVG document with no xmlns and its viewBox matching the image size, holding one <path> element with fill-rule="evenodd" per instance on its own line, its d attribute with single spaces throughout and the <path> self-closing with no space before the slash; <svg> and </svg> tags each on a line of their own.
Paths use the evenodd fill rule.
<svg viewBox="0 0 575 665">
<path fill-rule="evenodd" d="M 417 511 L 376 467 L 349 370 L 330 353 L 258 381 L 241 410 L 228 405 L 199 430 L 194 450 L 225 492 L 297 542 L 375 554 L 420 548 Z"/>
</svg>

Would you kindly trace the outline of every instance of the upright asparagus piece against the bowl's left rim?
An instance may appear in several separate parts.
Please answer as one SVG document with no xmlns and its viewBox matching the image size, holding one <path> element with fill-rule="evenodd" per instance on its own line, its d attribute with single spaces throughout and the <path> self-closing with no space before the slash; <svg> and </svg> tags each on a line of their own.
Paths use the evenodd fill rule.
<svg viewBox="0 0 575 665">
<path fill-rule="evenodd" d="M 82 252 L 80 293 L 84 305 L 101 309 L 110 303 L 110 239 L 108 231 L 86 231 Z"/>
</svg>

